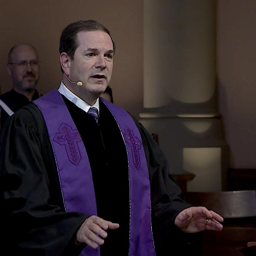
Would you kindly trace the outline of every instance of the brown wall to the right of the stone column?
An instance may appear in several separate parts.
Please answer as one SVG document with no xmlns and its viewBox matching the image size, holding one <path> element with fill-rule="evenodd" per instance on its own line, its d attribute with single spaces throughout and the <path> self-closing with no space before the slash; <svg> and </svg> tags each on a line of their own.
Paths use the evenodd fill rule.
<svg viewBox="0 0 256 256">
<path fill-rule="evenodd" d="M 218 0 L 219 110 L 231 167 L 256 168 L 256 1 Z"/>
</svg>

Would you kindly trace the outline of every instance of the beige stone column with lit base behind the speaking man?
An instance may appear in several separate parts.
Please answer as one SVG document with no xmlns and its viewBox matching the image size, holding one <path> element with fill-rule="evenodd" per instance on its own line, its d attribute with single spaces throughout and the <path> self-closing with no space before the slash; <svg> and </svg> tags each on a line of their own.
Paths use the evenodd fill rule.
<svg viewBox="0 0 256 256">
<path fill-rule="evenodd" d="M 170 173 L 196 174 L 188 182 L 190 191 L 220 191 L 228 165 L 217 107 L 215 44 L 215 0 L 144 0 L 140 121 L 158 133 Z"/>
</svg>

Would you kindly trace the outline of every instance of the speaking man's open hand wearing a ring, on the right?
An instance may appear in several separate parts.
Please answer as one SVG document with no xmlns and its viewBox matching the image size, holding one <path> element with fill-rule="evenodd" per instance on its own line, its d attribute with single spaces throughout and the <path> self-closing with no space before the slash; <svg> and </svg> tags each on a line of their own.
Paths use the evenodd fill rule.
<svg viewBox="0 0 256 256">
<path fill-rule="evenodd" d="M 185 233 L 196 233 L 205 229 L 222 230 L 223 218 L 205 207 L 189 207 L 182 210 L 174 224 Z"/>
</svg>

